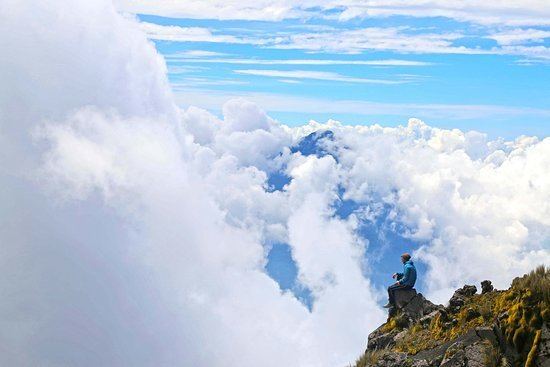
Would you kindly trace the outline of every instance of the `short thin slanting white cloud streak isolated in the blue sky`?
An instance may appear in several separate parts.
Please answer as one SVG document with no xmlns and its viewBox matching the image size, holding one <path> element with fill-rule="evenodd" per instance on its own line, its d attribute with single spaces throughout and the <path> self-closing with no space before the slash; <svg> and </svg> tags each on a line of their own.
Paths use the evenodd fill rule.
<svg viewBox="0 0 550 367">
<path fill-rule="evenodd" d="M 404 80 L 353 78 L 328 71 L 242 69 L 234 70 L 234 72 L 237 74 L 267 76 L 272 78 L 315 79 L 343 83 L 401 84 L 407 82 Z"/>
</svg>

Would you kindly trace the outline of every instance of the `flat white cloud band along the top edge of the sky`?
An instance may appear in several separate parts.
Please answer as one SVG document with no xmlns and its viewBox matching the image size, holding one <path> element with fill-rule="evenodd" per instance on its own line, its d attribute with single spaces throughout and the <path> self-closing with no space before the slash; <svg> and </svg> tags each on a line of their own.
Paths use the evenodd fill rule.
<svg viewBox="0 0 550 367">
<path fill-rule="evenodd" d="M 300 0 L 227 1 L 192 0 L 178 3 L 168 0 L 154 3 L 117 0 L 119 8 L 143 14 L 199 19 L 242 19 L 278 21 L 289 18 L 336 17 L 346 21 L 357 17 L 446 17 L 477 24 L 549 25 L 550 10 L 545 0 L 518 3 L 514 0 Z M 327 12 L 330 11 L 330 12 Z"/>
</svg>

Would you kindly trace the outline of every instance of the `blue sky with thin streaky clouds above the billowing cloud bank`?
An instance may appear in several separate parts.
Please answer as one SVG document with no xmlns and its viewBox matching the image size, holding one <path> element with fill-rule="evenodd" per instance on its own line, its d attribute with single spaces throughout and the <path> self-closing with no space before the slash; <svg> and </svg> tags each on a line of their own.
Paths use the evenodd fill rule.
<svg viewBox="0 0 550 367">
<path fill-rule="evenodd" d="M 492 138 L 550 134 L 548 24 L 331 18 L 340 13 L 138 18 L 165 56 L 183 107 L 219 112 L 227 99 L 245 97 L 291 126 L 331 118 L 395 126 L 417 117 Z"/>
</svg>

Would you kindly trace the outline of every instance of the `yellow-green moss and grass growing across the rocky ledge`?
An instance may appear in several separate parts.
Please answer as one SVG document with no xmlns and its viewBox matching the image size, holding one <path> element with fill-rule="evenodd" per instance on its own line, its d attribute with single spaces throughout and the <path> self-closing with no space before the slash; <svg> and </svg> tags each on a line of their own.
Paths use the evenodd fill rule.
<svg viewBox="0 0 550 367">
<path fill-rule="evenodd" d="M 472 317 L 472 311 L 479 316 Z M 428 326 L 410 326 L 394 349 L 414 355 L 453 340 L 475 327 L 493 325 L 503 315 L 504 318 L 500 320 L 501 331 L 520 356 L 515 365 L 529 367 L 537 353 L 537 336 L 540 335 L 542 324 L 550 323 L 550 268 L 540 266 L 516 278 L 507 291 L 476 294 L 468 298 L 458 313 L 449 315 L 455 320 L 453 324 L 446 323 L 447 320 L 438 315 Z M 396 318 L 390 320 L 386 327 L 390 331 L 405 326 Z M 494 353 L 492 356 L 495 361 L 499 359 L 496 350 L 491 353 Z M 500 364 L 495 362 L 490 366 L 505 366 L 505 362 L 500 359 Z"/>
</svg>

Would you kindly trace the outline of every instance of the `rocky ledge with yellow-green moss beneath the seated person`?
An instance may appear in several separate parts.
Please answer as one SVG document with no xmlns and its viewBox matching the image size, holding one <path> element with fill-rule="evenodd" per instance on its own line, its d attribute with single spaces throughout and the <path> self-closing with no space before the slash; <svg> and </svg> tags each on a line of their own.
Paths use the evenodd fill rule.
<svg viewBox="0 0 550 367">
<path fill-rule="evenodd" d="M 457 289 L 446 306 L 401 292 L 356 367 L 550 367 L 550 268 Z"/>
</svg>

